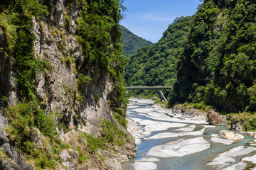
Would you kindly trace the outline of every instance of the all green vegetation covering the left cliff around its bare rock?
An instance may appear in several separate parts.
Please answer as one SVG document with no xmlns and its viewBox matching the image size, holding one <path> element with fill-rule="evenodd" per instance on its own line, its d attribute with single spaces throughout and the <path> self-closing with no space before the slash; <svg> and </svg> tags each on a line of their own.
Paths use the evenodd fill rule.
<svg viewBox="0 0 256 170">
<path fill-rule="evenodd" d="M 68 128 L 64 122 L 60 121 L 63 113 L 43 110 L 42 103 L 46 101 L 41 101 L 36 95 L 36 78 L 38 74 L 50 69 L 50 63 L 35 57 L 36 51 L 33 45 L 36 36 L 32 33 L 33 18 L 41 21 L 43 25 L 44 21 L 41 16 L 45 18 L 49 16 L 50 18 L 48 11 L 51 9 L 49 6 L 40 4 L 38 0 L 10 0 L 0 4 L 0 35 L 4 35 L 6 38 L 6 40 L 4 39 L 4 48 L 0 49 L 0 57 L 8 59 L 11 63 L 9 67 L 14 71 L 16 100 L 18 102 L 14 106 L 7 106 L 8 93 L 1 89 L 0 96 L 5 99 L 5 106 L 1 106 L 1 111 L 5 113 L 9 121 L 9 126 L 5 130 L 9 134 L 11 143 L 35 169 L 57 169 L 58 164 L 62 162 L 60 152 L 70 148 L 77 149 L 80 154 L 79 163 L 84 162 L 87 159 L 85 156 L 87 151 L 93 150 L 95 152 L 95 146 L 90 146 L 90 140 L 102 140 L 106 148 L 112 145 L 122 146 L 127 140 L 127 134 L 120 130 L 122 128 L 118 125 L 120 123 L 124 127 L 126 126 L 124 111 L 127 106 L 122 77 L 126 57 L 122 54 L 120 42 L 119 19 L 121 10 L 119 1 L 78 0 L 75 2 L 77 4 L 73 1 L 65 2 L 62 9 L 65 11 L 63 22 L 65 27 L 70 26 L 70 16 L 68 15 L 71 13 L 71 8 L 80 9 L 76 25 L 77 32 L 73 36 L 80 42 L 81 55 L 85 57 L 85 62 L 90 66 L 100 68 L 100 72 L 110 78 L 113 92 L 110 94 L 112 101 L 109 104 L 114 114 L 113 119 L 116 119 L 116 122 L 114 120 L 102 120 L 102 125 L 99 125 L 102 128 L 99 137 L 85 135 L 85 140 L 89 141 L 88 145 L 86 142 L 79 142 L 78 145 L 64 144 L 60 140 L 57 130 L 57 127 L 59 130 Z M 50 26 L 48 27 L 50 29 Z M 58 28 L 55 30 L 60 32 Z M 53 32 L 54 36 L 58 36 L 58 34 Z M 75 59 L 71 56 L 65 59 L 60 58 L 65 61 L 68 68 L 75 65 L 73 63 Z M 78 89 L 74 93 L 79 92 L 80 95 L 84 95 L 74 95 L 75 100 L 70 102 L 76 103 L 78 98 L 85 97 L 84 86 L 93 77 L 90 79 L 81 74 L 78 67 L 68 69 L 68 71 L 77 74 Z M 95 98 L 98 99 L 99 96 L 100 94 Z M 46 97 L 44 96 L 44 98 Z M 110 111 L 106 112 L 110 113 Z M 78 123 L 78 115 L 74 116 L 74 122 Z M 43 140 L 42 138 L 38 139 L 39 137 L 36 135 L 43 135 L 42 138 L 45 138 Z M 35 136 L 38 138 L 35 139 Z M 41 144 L 39 142 L 38 145 L 35 140 L 39 140 Z M 98 148 L 100 147 L 98 146 Z"/>
</svg>

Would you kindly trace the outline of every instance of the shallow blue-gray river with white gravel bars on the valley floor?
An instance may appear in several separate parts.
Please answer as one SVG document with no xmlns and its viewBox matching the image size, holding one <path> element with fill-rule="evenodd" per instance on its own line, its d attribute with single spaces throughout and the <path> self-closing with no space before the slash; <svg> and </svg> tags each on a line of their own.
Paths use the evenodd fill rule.
<svg viewBox="0 0 256 170">
<path fill-rule="evenodd" d="M 122 164 L 123 170 L 256 170 L 256 139 L 243 135 L 240 141 L 226 140 L 222 137 L 228 130 L 225 126 L 182 118 L 148 100 L 133 99 L 127 118 L 140 125 L 144 136 L 137 145 L 137 157 Z"/>
</svg>

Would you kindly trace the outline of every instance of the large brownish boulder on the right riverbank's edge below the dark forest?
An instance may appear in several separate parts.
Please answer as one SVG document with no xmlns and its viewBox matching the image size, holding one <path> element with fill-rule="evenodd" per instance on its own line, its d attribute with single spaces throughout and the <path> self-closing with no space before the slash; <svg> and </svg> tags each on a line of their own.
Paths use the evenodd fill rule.
<svg viewBox="0 0 256 170">
<path fill-rule="evenodd" d="M 228 120 L 225 115 L 219 115 L 213 109 L 207 114 L 207 121 L 210 125 L 228 125 Z"/>
</svg>

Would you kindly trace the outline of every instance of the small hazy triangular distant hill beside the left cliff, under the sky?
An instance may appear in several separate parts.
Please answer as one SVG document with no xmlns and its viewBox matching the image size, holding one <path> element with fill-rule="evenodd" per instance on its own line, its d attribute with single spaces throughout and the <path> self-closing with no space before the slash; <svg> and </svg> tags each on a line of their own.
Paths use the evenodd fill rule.
<svg viewBox="0 0 256 170">
<path fill-rule="evenodd" d="M 131 57 L 131 55 L 134 55 L 139 48 L 154 45 L 153 42 L 150 42 L 135 35 L 124 26 L 119 25 L 119 28 L 122 33 L 122 49 L 124 51 L 124 55 L 126 55 L 127 57 Z"/>
</svg>

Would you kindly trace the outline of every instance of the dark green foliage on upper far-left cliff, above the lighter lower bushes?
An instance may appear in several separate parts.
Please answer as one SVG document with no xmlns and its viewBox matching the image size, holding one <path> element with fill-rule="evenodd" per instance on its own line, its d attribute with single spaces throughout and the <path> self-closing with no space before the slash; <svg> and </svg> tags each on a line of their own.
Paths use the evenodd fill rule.
<svg viewBox="0 0 256 170">
<path fill-rule="evenodd" d="M 16 84 L 21 96 L 36 105 L 36 90 L 33 79 L 47 67 L 43 60 L 36 60 L 33 55 L 34 35 L 32 16 L 47 14 L 46 6 L 36 0 L 5 1 L 0 5 L 0 27 L 6 33 L 6 46 L 0 52 L 16 62 Z M 1 91 L 6 93 L 6 91 Z M 3 94 L 4 95 L 4 94 Z"/>
</svg>

